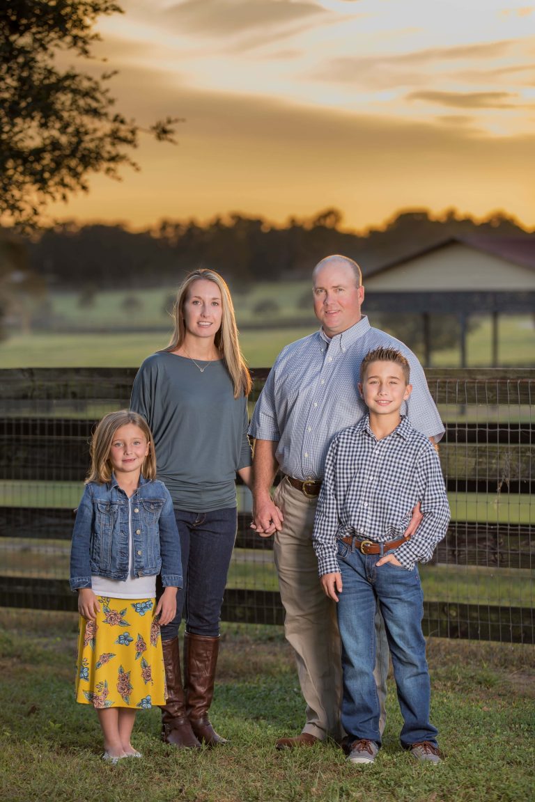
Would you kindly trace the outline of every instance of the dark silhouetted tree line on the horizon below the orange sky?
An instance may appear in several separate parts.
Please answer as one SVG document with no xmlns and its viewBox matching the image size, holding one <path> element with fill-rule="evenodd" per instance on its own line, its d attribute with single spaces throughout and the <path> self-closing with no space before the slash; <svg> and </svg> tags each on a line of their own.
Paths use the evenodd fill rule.
<svg viewBox="0 0 535 802">
<path fill-rule="evenodd" d="M 30 267 L 49 286 L 99 290 L 171 285 L 190 269 L 222 273 L 235 291 L 253 282 L 309 277 L 328 253 L 359 262 L 364 275 L 445 237 L 529 237 L 512 217 L 496 213 L 483 222 L 454 210 L 439 219 L 427 210 L 397 213 L 382 227 L 364 233 L 344 230 L 342 213 L 326 209 L 310 218 L 274 225 L 261 217 L 230 214 L 197 221 L 161 221 L 134 233 L 120 225 L 77 225 L 42 230 L 27 241 Z"/>
</svg>

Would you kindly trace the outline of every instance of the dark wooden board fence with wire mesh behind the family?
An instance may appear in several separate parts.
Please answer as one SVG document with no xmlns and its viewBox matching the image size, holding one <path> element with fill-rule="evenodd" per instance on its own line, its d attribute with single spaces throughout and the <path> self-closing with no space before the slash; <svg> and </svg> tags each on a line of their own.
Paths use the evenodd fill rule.
<svg viewBox="0 0 535 802">
<path fill-rule="evenodd" d="M 250 409 L 267 372 L 253 371 Z M 0 371 L 0 605 L 75 610 L 70 539 L 91 431 L 106 412 L 128 407 L 135 374 Z M 440 460 L 452 520 L 420 568 L 424 632 L 533 644 L 535 371 L 435 369 L 428 383 L 446 426 Z M 272 541 L 249 528 L 247 488 L 237 497 L 223 617 L 280 624 Z"/>
</svg>

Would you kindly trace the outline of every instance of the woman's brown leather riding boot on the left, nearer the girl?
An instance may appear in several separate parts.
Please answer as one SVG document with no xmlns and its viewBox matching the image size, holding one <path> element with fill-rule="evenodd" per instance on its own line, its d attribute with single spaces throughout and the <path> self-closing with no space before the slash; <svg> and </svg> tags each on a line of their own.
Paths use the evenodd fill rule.
<svg viewBox="0 0 535 802">
<path fill-rule="evenodd" d="M 164 650 L 165 683 L 168 693 L 164 707 L 160 707 L 162 740 L 179 749 L 200 749 L 201 743 L 195 737 L 186 714 L 184 688 L 180 676 L 178 638 L 162 641 L 161 645 Z"/>
</svg>

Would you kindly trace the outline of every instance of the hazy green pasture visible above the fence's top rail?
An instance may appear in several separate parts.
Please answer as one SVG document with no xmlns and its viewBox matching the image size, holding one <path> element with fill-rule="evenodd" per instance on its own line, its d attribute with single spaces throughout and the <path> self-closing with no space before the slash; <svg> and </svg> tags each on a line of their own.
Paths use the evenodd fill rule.
<svg viewBox="0 0 535 802">
<path fill-rule="evenodd" d="M 0 367 L 136 367 L 148 354 L 167 345 L 175 293 L 176 287 L 107 290 L 95 293 L 90 306 L 80 306 L 77 293 L 51 293 L 46 307 L 51 330 L 11 334 L 0 342 Z M 317 328 L 308 281 L 258 282 L 246 292 L 237 286 L 233 299 L 241 347 L 252 367 L 270 367 L 283 346 Z M 366 306 L 363 308 L 365 311 Z M 478 322 L 468 334 L 468 367 L 488 365 L 491 359 L 490 320 L 480 318 Z M 55 326 L 60 330 L 55 331 Z M 397 334 L 395 318 L 392 330 Z M 535 364 L 532 317 L 504 316 L 499 339 L 501 365 Z M 452 348 L 433 354 L 432 365 L 457 367 L 459 360 L 459 349 Z"/>
</svg>

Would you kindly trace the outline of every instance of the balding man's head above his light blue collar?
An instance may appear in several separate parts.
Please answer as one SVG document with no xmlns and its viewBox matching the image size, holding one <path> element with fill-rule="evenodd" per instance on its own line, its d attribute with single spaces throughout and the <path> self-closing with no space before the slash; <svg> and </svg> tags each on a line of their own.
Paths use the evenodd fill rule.
<svg viewBox="0 0 535 802">
<path fill-rule="evenodd" d="M 358 323 L 364 287 L 357 286 L 355 273 L 346 262 L 333 261 L 314 277 L 314 313 L 327 337 L 334 337 Z"/>
</svg>

